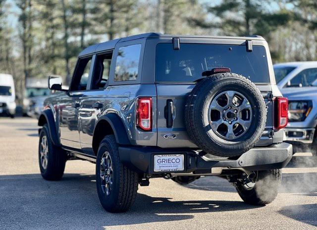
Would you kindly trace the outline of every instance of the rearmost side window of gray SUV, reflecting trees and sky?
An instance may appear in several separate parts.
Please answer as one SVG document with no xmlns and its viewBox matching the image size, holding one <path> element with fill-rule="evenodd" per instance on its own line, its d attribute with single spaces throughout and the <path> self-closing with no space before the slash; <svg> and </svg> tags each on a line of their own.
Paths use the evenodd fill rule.
<svg viewBox="0 0 317 230">
<path fill-rule="evenodd" d="M 133 81 L 138 78 L 140 53 L 141 44 L 119 48 L 114 81 Z"/>
</svg>

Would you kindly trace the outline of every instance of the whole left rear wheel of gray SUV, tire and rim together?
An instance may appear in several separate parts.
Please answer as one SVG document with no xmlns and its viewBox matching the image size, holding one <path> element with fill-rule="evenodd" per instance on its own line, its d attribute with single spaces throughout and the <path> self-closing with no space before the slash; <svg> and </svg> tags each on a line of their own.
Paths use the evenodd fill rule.
<svg viewBox="0 0 317 230">
<path fill-rule="evenodd" d="M 107 135 L 100 143 L 96 162 L 97 192 L 104 209 L 127 211 L 136 198 L 138 182 L 138 174 L 121 163 L 114 135 Z"/>
</svg>

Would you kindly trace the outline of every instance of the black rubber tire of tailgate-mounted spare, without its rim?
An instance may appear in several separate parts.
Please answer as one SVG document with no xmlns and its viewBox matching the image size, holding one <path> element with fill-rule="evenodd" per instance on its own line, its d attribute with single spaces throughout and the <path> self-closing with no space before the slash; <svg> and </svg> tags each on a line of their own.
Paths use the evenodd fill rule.
<svg viewBox="0 0 317 230">
<path fill-rule="evenodd" d="M 226 90 L 242 91 L 253 105 L 253 120 L 248 131 L 232 141 L 222 139 L 214 132 L 207 133 L 206 110 L 213 98 Z M 207 113 L 208 114 L 208 113 Z M 206 118 L 207 117 L 207 118 Z M 205 119 L 205 120 L 204 120 Z M 187 132 L 194 143 L 219 157 L 241 156 L 260 140 L 266 122 L 266 108 L 260 90 L 249 79 L 236 73 L 217 73 L 202 79 L 188 96 L 185 109 Z"/>
</svg>

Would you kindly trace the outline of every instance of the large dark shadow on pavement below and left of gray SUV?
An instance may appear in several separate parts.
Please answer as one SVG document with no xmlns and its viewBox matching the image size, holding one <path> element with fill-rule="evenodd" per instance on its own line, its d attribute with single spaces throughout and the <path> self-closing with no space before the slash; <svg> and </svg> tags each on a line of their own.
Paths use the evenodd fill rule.
<svg viewBox="0 0 317 230">
<path fill-rule="evenodd" d="M 1 230 L 48 226 L 92 229 L 187 220 L 194 218 L 191 213 L 257 208 L 239 201 L 173 201 L 139 193 L 129 212 L 111 214 L 99 203 L 95 176 L 81 174 L 65 174 L 60 181 L 46 181 L 39 174 L 3 175 L 0 176 L 0 201 Z"/>
</svg>

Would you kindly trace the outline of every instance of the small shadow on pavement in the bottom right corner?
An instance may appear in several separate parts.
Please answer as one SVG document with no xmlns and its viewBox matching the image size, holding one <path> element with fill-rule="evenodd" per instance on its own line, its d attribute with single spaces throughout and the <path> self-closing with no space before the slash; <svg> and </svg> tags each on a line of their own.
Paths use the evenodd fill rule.
<svg viewBox="0 0 317 230">
<path fill-rule="evenodd" d="M 278 213 L 317 227 L 317 204 L 292 205 L 282 208 Z"/>
</svg>

